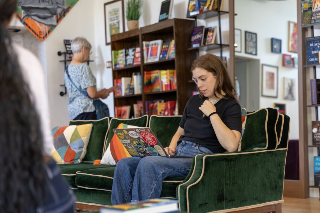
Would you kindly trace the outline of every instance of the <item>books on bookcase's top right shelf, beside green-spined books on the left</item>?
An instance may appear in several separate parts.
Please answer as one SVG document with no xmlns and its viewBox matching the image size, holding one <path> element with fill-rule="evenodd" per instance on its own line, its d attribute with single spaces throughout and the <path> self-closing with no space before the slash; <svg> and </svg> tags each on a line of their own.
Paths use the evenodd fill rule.
<svg viewBox="0 0 320 213">
<path fill-rule="evenodd" d="M 175 42 L 163 42 L 163 40 L 153 40 L 142 42 L 144 63 L 156 62 L 175 57 Z"/>
</svg>

